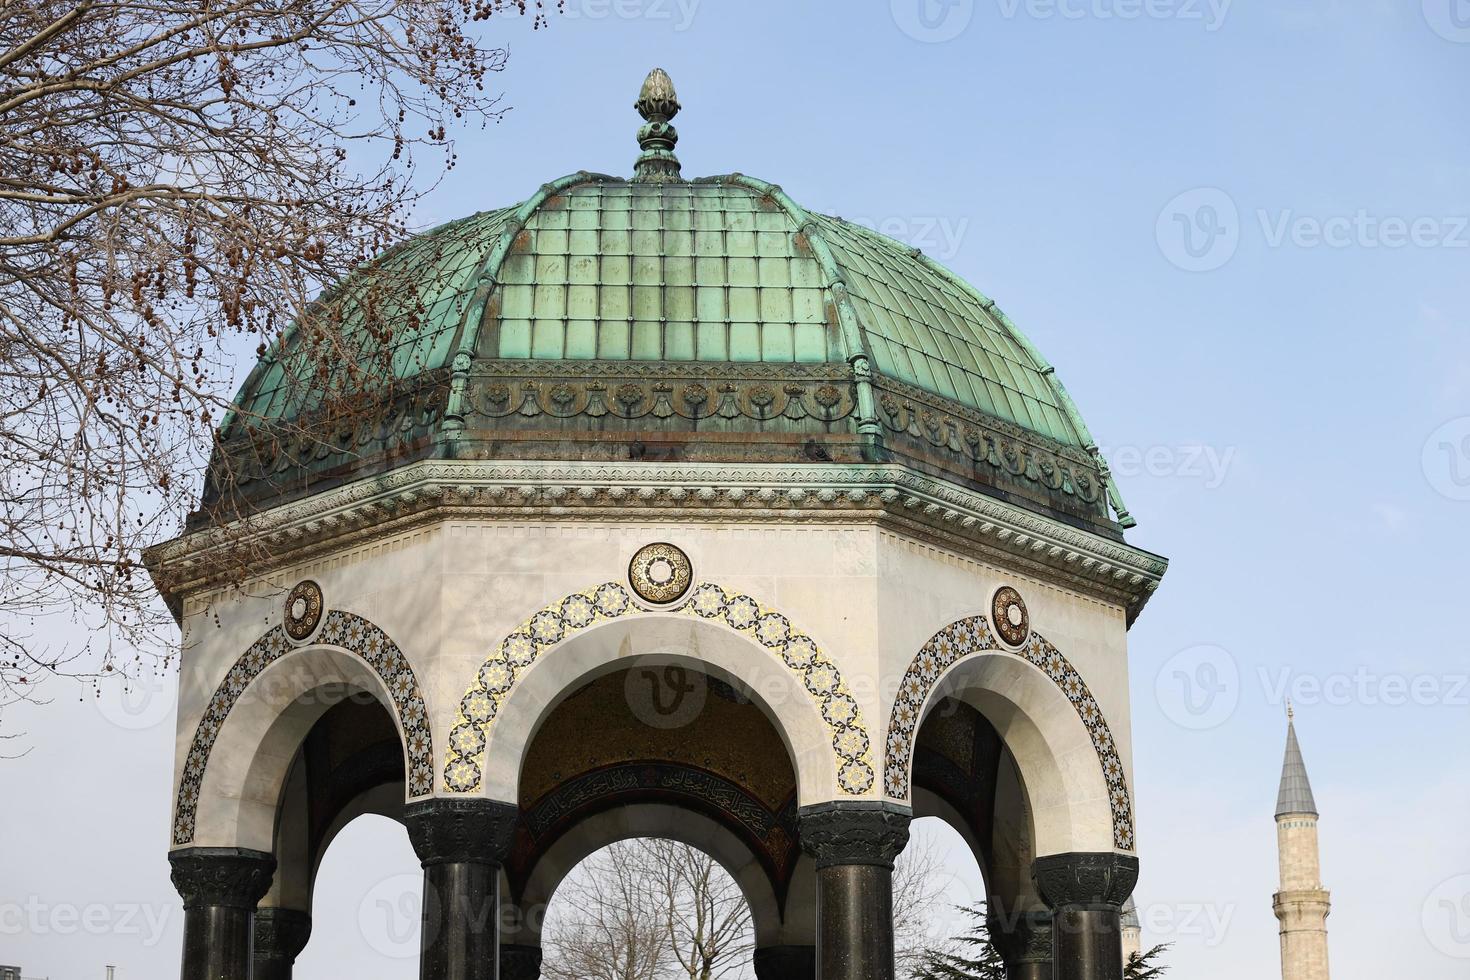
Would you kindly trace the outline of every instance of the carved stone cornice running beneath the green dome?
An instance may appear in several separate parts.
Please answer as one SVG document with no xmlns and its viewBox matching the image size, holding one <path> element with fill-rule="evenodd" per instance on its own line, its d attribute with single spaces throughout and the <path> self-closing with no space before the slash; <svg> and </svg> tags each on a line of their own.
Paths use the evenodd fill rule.
<svg viewBox="0 0 1470 980">
<path fill-rule="evenodd" d="M 1169 563 L 1122 541 L 901 464 L 423 460 L 150 548 L 169 599 L 444 517 L 870 522 L 961 554 L 1005 560 L 1123 605 L 1132 623 Z"/>
</svg>

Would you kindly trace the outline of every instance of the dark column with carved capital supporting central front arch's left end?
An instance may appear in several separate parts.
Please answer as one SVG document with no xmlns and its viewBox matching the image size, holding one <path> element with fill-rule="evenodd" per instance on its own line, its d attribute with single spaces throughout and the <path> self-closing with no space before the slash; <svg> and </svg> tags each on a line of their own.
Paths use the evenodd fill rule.
<svg viewBox="0 0 1470 980">
<path fill-rule="evenodd" d="M 404 808 L 423 865 L 420 980 L 495 980 L 500 865 L 519 814 L 494 799 L 425 799 Z"/>
</svg>

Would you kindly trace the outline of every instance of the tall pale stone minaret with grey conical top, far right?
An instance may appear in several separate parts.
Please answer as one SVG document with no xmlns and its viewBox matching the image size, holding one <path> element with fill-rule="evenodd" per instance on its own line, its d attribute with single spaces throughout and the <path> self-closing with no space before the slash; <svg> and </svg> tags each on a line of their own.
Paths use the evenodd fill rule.
<svg viewBox="0 0 1470 980">
<path fill-rule="evenodd" d="M 1317 804 L 1297 743 L 1295 713 L 1286 705 L 1286 760 L 1276 796 L 1276 846 L 1282 886 L 1274 909 L 1282 933 L 1282 980 L 1327 980 L 1327 911 L 1317 857 Z"/>
</svg>

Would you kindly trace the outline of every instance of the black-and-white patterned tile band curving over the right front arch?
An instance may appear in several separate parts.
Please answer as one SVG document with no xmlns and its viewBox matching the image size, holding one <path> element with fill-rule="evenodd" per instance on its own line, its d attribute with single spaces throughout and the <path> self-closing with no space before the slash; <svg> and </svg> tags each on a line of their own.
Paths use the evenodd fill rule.
<svg viewBox="0 0 1470 980">
<path fill-rule="evenodd" d="M 939 677 L 957 661 L 983 651 L 1010 652 L 995 642 L 991 624 L 983 616 L 950 623 L 942 630 L 929 638 L 908 664 L 903 683 L 898 686 L 898 698 L 894 701 L 894 711 L 888 718 L 888 754 L 883 763 L 883 789 L 894 799 L 908 799 L 910 767 L 913 765 L 914 738 L 919 729 L 920 714 L 929 699 Z M 1098 764 L 1102 767 L 1102 777 L 1108 788 L 1108 807 L 1113 813 L 1113 845 L 1123 849 L 1133 849 L 1133 804 L 1127 792 L 1127 782 L 1123 779 L 1123 760 L 1117 754 L 1113 742 L 1113 730 L 1108 729 L 1102 710 L 1098 707 L 1092 692 L 1088 691 L 1082 674 L 1072 666 L 1060 649 L 1051 645 L 1041 633 L 1032 632 L 1026 645 L 1014 651 L 1016 657 L 1023 657 L 1039 667 L 1053 683 L 1055 683 L 1078 717 L 1088 729 L 1092 748 L 1097 752 Z"/>
</svg>

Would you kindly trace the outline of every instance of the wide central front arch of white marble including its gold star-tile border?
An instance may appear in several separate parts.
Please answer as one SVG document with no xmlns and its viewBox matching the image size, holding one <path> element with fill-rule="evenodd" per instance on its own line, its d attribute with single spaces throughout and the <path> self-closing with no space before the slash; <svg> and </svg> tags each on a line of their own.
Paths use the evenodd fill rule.
<svg viewBox="0 0 1470 980">
<path fill-rule="evenodd" d="M 750 655 L 753 645 L 761 655 Z M 681 649 L 697 651 L 686 658 L 692 666 L 760 695 L 786 739 L 803 799 L 823 799 L 833 783 L 851 796 L 873 788 L 872 742 L 857 699 L 816 641 L 784 614 L 710 582 L 669 610 L 644 610 L 628 589 L 607 582 L 541 608 L 481 664 L 450 732 L 445 790 L 516 799 L 531 735 L 569 683 L 617 658 Z M 794 689 L 798 696 L 788 696 Z"/>
</svg>

